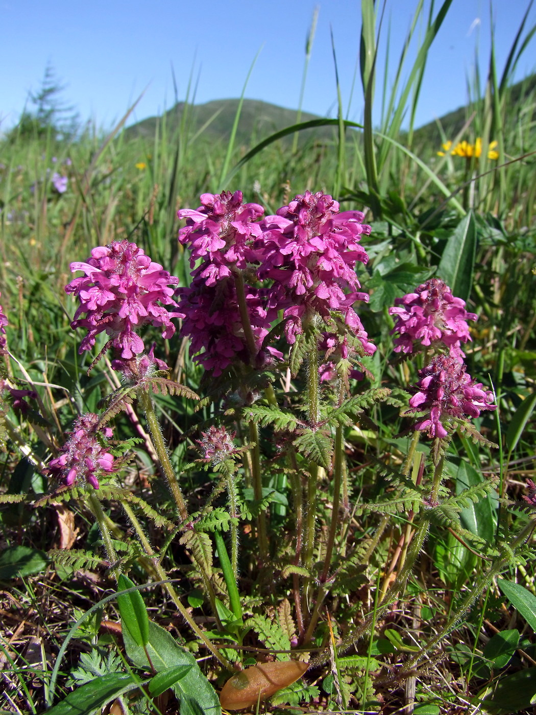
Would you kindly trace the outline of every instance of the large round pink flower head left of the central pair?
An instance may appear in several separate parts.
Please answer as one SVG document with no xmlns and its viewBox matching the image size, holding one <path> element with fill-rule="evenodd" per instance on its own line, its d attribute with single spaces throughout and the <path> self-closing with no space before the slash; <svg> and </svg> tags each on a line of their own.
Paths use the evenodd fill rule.
<svg viewBox="0 0 536 715">
<path fill-rule="evenodd" d="M 179 279 L 169 275 L 159 263 L 154 263 L 135 243 L 114 241 L 91 251 L 87 262 L 71 263 L 71 271 L 81 270 L 84 276 L 75 278 L 65 290 L 79 298 L 80 305 L 71 327 L 88 331 L 79 352 L 91 350 L 96 336 L 106 332 L 111 345 L 121 358 L 129 360 L 144 350 L 144 342 L 136 330 L 146 323 L 162 328 L 163 337 L 172 337 L 175 326 L 165 305 L 177 306 L 172 299 Z M 85 317 L 80 317 L 85 313 Z"/>
</svg>

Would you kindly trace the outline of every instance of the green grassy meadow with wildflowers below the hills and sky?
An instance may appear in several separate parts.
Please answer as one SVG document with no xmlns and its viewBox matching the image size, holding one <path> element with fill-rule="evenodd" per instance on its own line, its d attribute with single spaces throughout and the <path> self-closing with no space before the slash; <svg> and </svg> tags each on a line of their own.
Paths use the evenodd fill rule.
<svg viewBox="0 0 536 715">
<path fill-rule="evenodd" d="M 362 8 L 360 127 L 0 139 L 3 711 L 532 711 L 536 28 L 432 131 Z"/>
</svg>

